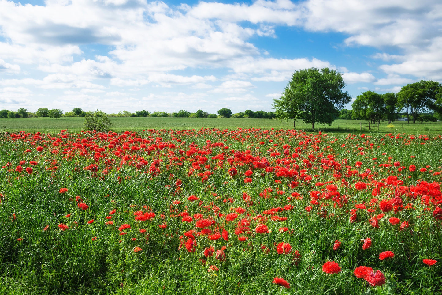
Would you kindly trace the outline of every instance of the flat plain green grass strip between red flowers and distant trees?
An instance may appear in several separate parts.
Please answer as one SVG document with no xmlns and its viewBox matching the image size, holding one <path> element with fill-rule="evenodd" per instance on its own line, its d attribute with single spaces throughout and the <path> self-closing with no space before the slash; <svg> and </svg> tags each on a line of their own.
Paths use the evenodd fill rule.
<svg viewBox="0 0 442 295">
<path fill-rule="evenodd" d="M 260 128 L 260 129 L 293 129 L 293 121 L 281 121 L 276 119 L 245 119 L 245 118 L 110 118 L 113 130 L 122 132 L 126 130 L 141 131 L 147 129 L 173 129 L 173 130 L 199 130 L 201 128 L 236 129 L 236 128 Z M 80 132 L 84 129 L 84 118 L 62 117 L 57 120 L 52 118 L 0 118 L 0 126 L 3 131 L 17 132 L 59 132 L 63 129 Z M 357 132 L 360 131 L 358 120 L 335 120 L 332 126 L 316 124 L 316 131 L 327 132 Z M 368 125 L 362 121 L 362 125 Z M 310 130 L 311 124 L 296 122 L 297 130 Z M 363 128 L 368 132 L 368 128 Z M 377 132 L 374 125 L 370 132 Z M 379 132 L 406 132 L 406 133 L 442 133 L 442 122 L 430 122 L 424 124 L 408 124 L 396 121 L 392 125 L 381 122 Z"/>
</svg>

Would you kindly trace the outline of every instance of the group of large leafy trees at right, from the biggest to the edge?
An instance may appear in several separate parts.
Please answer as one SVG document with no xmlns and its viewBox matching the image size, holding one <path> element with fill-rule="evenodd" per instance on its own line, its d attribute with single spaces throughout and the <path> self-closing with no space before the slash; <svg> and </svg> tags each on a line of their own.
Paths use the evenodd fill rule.
<svg viewBox="0 0 442 295">
<path fill-rule="evenodd" d="M 368 120 L 373 123 L 388 120 L 389 123 L 400 115 L 410 123 L 442 119 L 442 85 L 439 82 L 421 80 L 407 84 L 398 93 L 379 94 L 366 91 L 356 97 L 351 110 L 343 109 L 351 96 L 343 92 L 345 83 L 342 75 L 328 68 L 309 68 L 293 73 L 292 80 L 282 93 L 274 99 L 273 108 L 280 119 L 304 123 L 329 124 L 335 119 Z"/>
</svg>

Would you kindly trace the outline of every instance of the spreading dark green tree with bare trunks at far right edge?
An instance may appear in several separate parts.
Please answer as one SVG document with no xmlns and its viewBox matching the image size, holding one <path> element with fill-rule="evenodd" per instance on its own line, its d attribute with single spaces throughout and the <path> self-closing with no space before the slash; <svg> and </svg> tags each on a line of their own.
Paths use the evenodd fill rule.
<svg viewBox="0 0 442 295">
<path fill-rule="evenodd" d="M 413 116 L 413 124 L 420 113 L 429 109 L 439 111 L 438 98 L 442 93 L 442 85 L 439 82 L 424 81 L 407 84 L 397 93 L 397 108 L 405 110 L 407 116 Z M 410 120 L 408 120 L 410 123 Z"/>
</svg>

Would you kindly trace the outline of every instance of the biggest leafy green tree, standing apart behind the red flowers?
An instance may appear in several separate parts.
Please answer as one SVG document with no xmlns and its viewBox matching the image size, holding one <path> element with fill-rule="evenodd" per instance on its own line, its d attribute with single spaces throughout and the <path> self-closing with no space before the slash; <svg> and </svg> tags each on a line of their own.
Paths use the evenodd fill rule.
<svg viewBox="0 0 442 295">
<path fill-rule="evenodd" d="M 333 123 L 339 116 L 339 110 L 351 101 L 342 75 L 335 70 L 309 68 L 293 73 L 293 78 L 282 93 L 282 97 L 274 99 L 273 108 L 276 117 L 293 119 L 293 127 L 297 119 L 311 123 Z"/>
</svg>

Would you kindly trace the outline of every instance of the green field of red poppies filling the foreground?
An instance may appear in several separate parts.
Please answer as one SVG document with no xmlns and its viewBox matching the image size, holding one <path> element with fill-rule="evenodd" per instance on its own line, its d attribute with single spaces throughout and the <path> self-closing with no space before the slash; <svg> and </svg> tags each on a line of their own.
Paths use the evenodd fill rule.
<svg viewBox="0 0 442 295">
<path fill-rule="evenodd" d="M 0 140 L 0 294 L 442 292 L 442 136 Z"/>
</svg>

